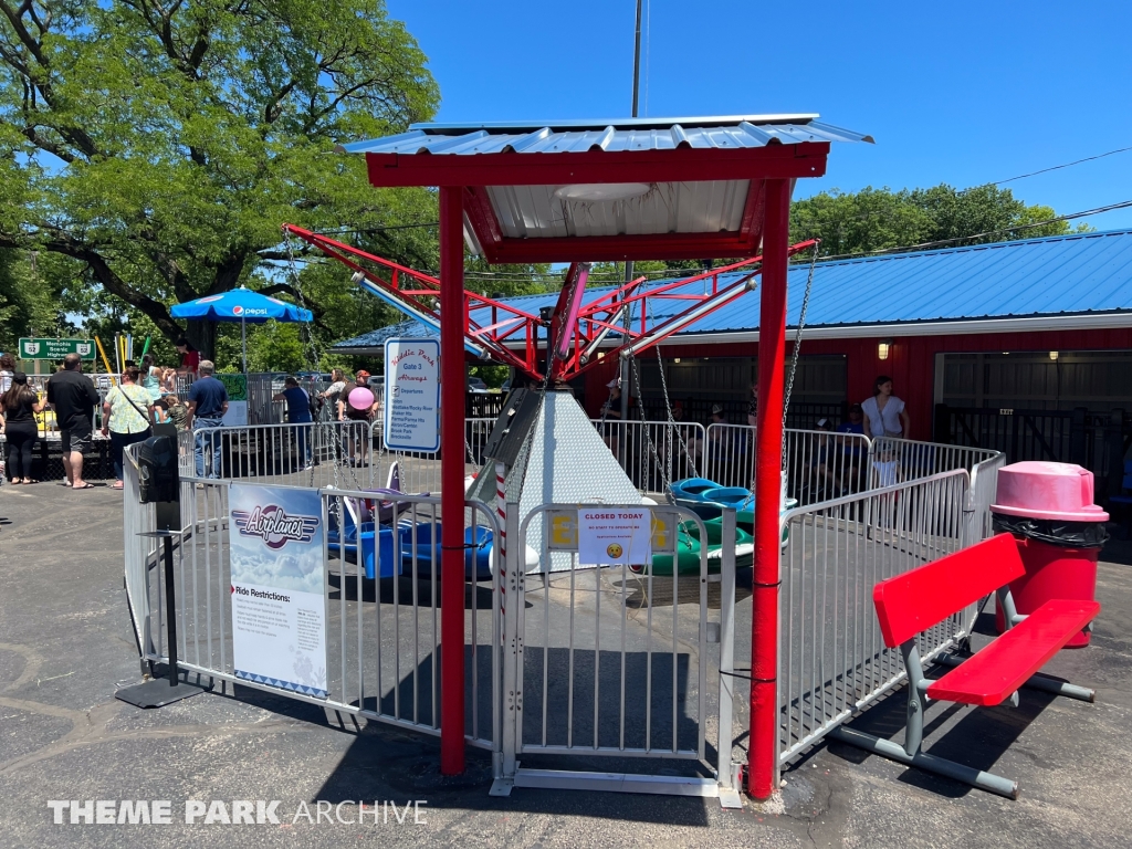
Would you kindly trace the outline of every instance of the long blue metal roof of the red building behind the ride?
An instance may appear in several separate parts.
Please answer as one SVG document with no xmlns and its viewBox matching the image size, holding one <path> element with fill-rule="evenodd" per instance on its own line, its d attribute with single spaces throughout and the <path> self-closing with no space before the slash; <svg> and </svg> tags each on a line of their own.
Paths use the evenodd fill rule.
<svg viewBox="0 0 1132 849">
<path fill-rule="evenodd" d="M 787 324 L 797 326 L 809 264 L 789 273 Z M 738 280 L 741 273 L 721 275 Z M 659 281 L 658 281 L 659 282 Z M 689 291 L 702 291 L 702 283 Z M 586 302 L 609 288 L 586 290 Z M 677 290 L 679 291 L 679 290 Z M 505 299 L 528 312 L 551 306 L 557 293 Z M 680 301 L 657 301 L 653 321 L 680 311 Z M 890 254 L 818 263 L 806 327 L 814 332 L 901 325 L 916 333 L 933 323 L 978 319 L 1126 314 L 1132 326 L 1132 230 L 1058 235 L 963 248 Z M 474 315 L 474 312 L 473 312 Z M 415 331 L 402 325 L 406 334 Z M 758 297 L 748 294 L 672 341 L 758 328 Z M 423 328 L 418 328 L 423 333 Z M 887 328 L 886 328 L 887 331 Z M 337 349 L 376 348 L 380 328 Z M 384 336 L 381 336 L 384 342 Z"/>
</svg>

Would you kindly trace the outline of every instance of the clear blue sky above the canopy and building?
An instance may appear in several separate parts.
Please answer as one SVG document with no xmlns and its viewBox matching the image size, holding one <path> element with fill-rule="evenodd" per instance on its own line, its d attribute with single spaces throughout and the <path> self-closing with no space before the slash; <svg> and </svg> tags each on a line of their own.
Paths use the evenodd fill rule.
<svg viewBox="0 0 1132 849">
<path fill-rule="evenodd" d="M 1129 0 L 646 6 L 642 114 L 818 112 L 876 138 L 834 145 L 798 197 L 966 187 L 1132 147 Z M 440 121 L 629 114 L 634 0 L 388 7 L 429 57 Z M 1009 187 L 1061 214 L 1129 200 L 1132 151 Z M 1087 221 L 1132 226 L 1132 208 Z"/>
</svg>

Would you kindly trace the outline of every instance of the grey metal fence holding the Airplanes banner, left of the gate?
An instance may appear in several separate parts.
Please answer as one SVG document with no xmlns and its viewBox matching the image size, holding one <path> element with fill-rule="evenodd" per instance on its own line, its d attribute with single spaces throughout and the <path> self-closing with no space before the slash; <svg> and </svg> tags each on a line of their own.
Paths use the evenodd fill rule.
<svg viewBox="0 0 1132 849">
<path fill-rule="evenodd" d="M 163 611 L 170 588 L 158 568 L 153 505 L 139 504 L 138 446 L 127 448 L 126 585 L 143 669 L 168 662 Z M 174 535 L 177 654 L 182 670 L 309 702 L 327 710 L 439 734 L 439 581 L 443 517 L 438 498 L 383 501 L 360 489 L 321 489 L 326 696 L 281 691 L 234 666 L 230 498 L 237 483 L 183 479 L 182 530 Z M 271 484 L 276 491 L 309 488 Z M 495 604 L 499 564 L 492 509 L 469 501 L 456 518 L 471 540 L 465 557 L 465 736 L 495 751 L 499 738 L 500 620 Z M 156 541 L 160 543 L 160 541 Z"/>
</svg>

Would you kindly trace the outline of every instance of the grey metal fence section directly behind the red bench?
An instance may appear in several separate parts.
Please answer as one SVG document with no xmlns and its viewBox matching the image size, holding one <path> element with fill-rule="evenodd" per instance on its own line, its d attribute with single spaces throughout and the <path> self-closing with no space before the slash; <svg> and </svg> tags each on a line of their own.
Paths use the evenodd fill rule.
<svg viewBox="0 0 1132 849">
<path fill-rule="evenodd" d="M 1002 457 L 789 511 L 779 595 L 778 762 L 787 763 L 906 679 L 873 586 L 989 534 Z M 974 478 L 974 480 L 972 480 Z M 925 662 L 970 634 L 976 607 L 919 637 Z"/>
</svg>

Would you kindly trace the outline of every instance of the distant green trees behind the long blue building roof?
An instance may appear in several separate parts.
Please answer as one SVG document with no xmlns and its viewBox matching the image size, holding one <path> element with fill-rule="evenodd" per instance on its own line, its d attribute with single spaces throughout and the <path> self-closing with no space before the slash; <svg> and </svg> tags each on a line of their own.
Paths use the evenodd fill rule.
<svg viewBox="0 0 1132 849">
<path fill-rule="evenodd" d="M 941 183 L 900 191 L 869 187 L 851 194 L 834 189 L 791 205 L 790 239 L 799 242 L 820 238 L 822 254 L 840 256 L 943 240 L 957 241 L 935 247 L 1071 232 L 1064 221 L 1026 226 L 1055 216 L 1050 207 L 1027 205 L 1010 189 L 994 186 L 955 189 Z"/>
</svg>

